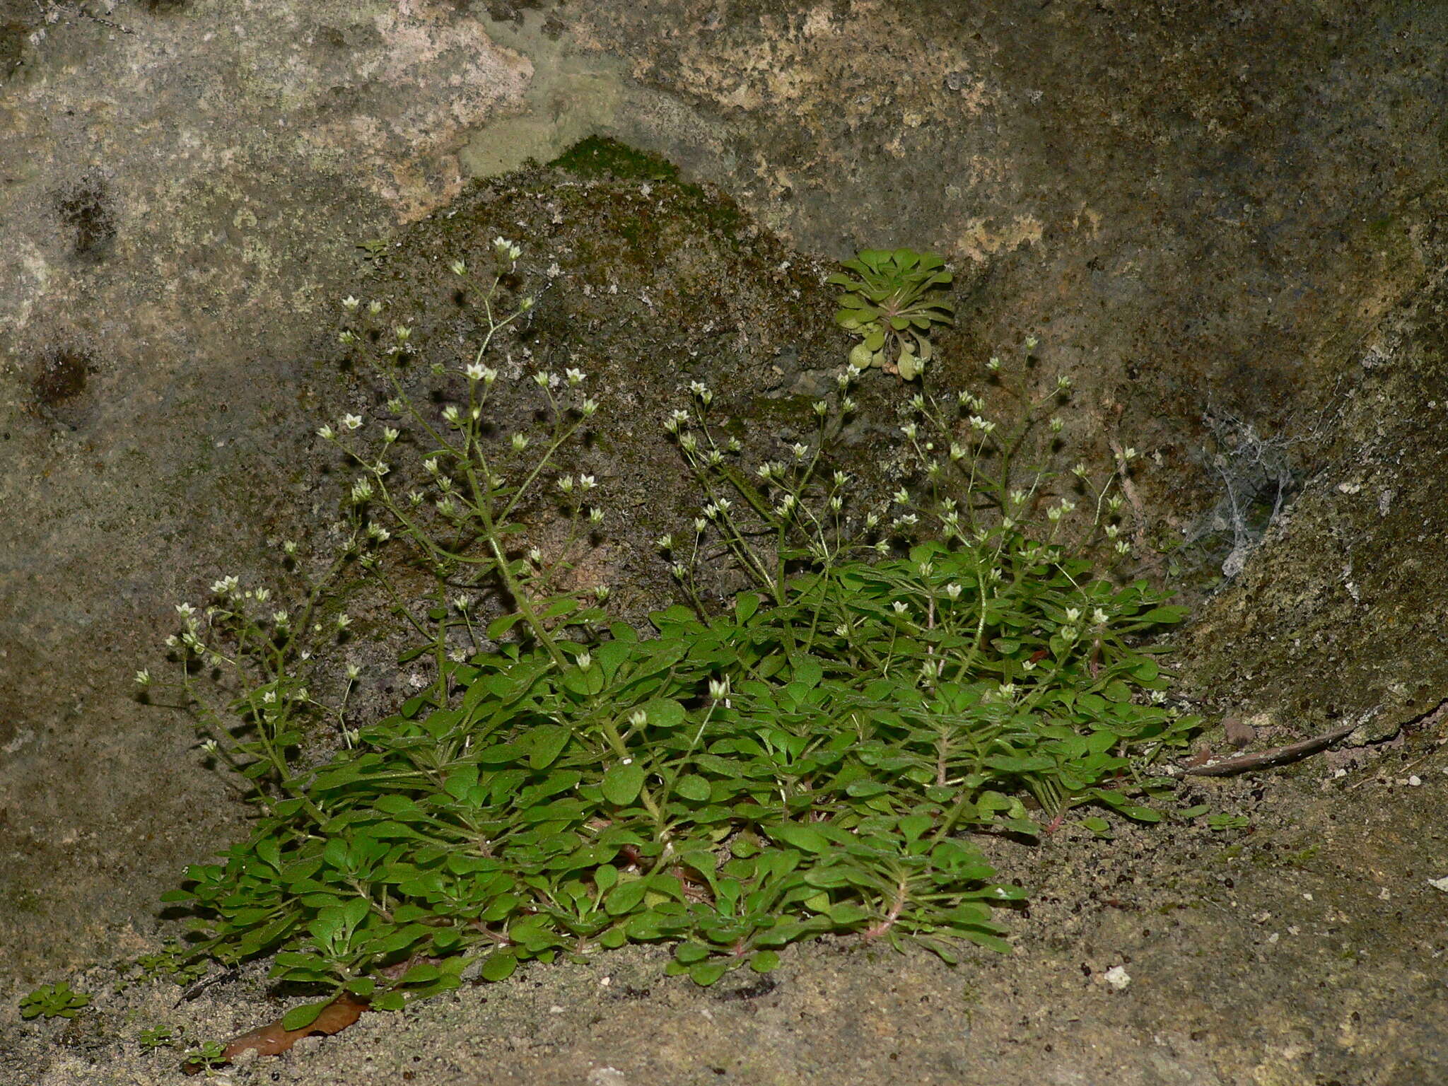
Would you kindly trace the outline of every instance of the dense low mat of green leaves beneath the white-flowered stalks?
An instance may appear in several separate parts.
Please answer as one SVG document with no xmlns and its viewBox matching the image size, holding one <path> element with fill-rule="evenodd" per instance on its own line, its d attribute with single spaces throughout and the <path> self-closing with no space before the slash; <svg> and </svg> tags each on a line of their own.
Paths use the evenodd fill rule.
<svg viewBox="0 0 1448 1086">
<path fill-rule="evenodd" d="M 1180 611 L 1016 543 L 1005 592 L 959 591 L 986 556 L 930 543 L 614 626 L 586 666 L 581 643 L 449 663 L 452 696 L 363 728 L 165 899 L 206 951 L 381 1008 L 624 943 L 699 983 L 827 933 L 1003 950 L 990 906 L 1022 891 L 960 831 L 1038 834 L 1022 796 L 1154 821 L 1129 756 L 1190 727 L 1134 699 L 1164 681 L 1131 636 Z M 1099 641 L 1063 636 L 1098 607 Z"/>
</svg>

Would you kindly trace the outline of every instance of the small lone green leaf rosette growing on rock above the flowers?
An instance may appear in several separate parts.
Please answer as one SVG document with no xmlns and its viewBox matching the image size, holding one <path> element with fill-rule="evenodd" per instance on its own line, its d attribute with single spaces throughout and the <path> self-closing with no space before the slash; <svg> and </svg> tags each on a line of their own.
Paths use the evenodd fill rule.
<svg viewBox="0 0 1448 1086">
<path fill-rule="evenodd" d="M 841 261 L 853 275 L 837 272 L 825 282 L 844 287 L 835 321 L 862 337 L 850 352 L 856 369 L 895 365 L 912 381 L 930 361 L 930 332 L 954 323 L 946 287 L 954 278 L 944 259 L 914 249 L 862 249 Z"/>
</svg>

